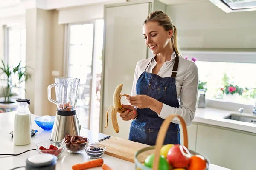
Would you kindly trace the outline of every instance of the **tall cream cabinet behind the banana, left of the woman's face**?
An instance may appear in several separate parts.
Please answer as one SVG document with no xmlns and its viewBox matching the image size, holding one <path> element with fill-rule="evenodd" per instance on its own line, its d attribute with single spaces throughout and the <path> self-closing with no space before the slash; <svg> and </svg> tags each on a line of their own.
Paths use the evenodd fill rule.
<svg viewBox="0 0 256 170">
<path fill-rule="evenodd" d="M 120 130 L 119 133 L 115 133 L 111 113 L 108 114 L 108 127 L 104 128 L 105 114 L 109 106 L 113 105 L 113 93 L 119 84 L 123 84 L 122 94 L 131 94 L 137 62 L 152 56 L 144 42 L 143 21 L 151 11 L 165 11 L 165 8 L 166 5 L 157 0 L 105 6 L 100 122 L 102 133 L 128 139 L 131 121 L 122 121 L 117 113 Z M 127 104 L 125 97 L 121 102 Z"/>
</svg>

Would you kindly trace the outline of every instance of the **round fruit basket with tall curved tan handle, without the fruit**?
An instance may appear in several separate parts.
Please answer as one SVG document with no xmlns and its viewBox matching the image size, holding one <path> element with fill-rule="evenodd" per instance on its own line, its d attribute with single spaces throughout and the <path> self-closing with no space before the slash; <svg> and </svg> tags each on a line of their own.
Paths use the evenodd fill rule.
<svg viewBox="0 0 256 170">
<path fill-rule="evenodd" d="M 161 147 L 163 147 L 163 141 L 165 139 L 165 135 L 166 135 L 167 129 L 168 129 L 169 125 L 170 125 L 171 120 L 174 117 L 177 117 L 177 118 L 180 119 L 180 122 L 181 122 L 181 125 L 182 125 L 182 128 L 183 128 L 184 146 L 186 148 L 188 148 L 188 134 L 187 134 L 187 129 L 186 129 L 185 121 L 179 115 L 174 115 L 174 114 L 170 115 L 170 116 L 167 117 L 167 119 L 165 119 L 163 121 L 163 124 L 160 127 L 159 133 L 157 135 L 156 145 L 155 146 L 151 146 L 151 147 L 145 147 L 145 148 L 143 148 L 141 150 L 138 150 L 135 153 L 134 161 L 135 161 L 135 168 L 136 169 L 140 168 L 141 170 L 158 170 L 159 157 L 160 157 L 160 149 L 161 149 Z M 197 153 L 197 152 L 192 151 L 192 150 L 189 150 L 189 152 L 191 153 L 191 155 L 196 155 L 197 154 L 197 155 L 203 156 L 202 154 Z M 148 155 L 150 155 L 151 153 L 155 154 L 153 168 L 146 167 L 146 166 L 143 165 L 143 162 L 145 161 L 145 158 Z M 209 159 L 207 157 L 205 157 L 205 156 L 203 156 L 203 157 L 204 157 L 204 159 L 206 160 L 206 163 L 207 163 L 207 167 L 206 167 L 205 170 L 208 170 L 209 169 L 210 161 L 209 161 Z"/>
</svg>

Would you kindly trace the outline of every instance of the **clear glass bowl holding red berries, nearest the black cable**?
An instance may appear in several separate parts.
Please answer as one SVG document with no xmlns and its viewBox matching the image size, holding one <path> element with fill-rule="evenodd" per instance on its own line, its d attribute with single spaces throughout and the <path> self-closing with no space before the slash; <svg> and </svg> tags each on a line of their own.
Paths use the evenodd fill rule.
<svg viewBox="0 0 256 170">
<path fill-rule="evenodd" d="M 46 141 L 40 142 L 35 146 L 38 153 L 49 153 L 59 158 L 64 152 L 66 144 L 64 142 Z"/>
</svg>

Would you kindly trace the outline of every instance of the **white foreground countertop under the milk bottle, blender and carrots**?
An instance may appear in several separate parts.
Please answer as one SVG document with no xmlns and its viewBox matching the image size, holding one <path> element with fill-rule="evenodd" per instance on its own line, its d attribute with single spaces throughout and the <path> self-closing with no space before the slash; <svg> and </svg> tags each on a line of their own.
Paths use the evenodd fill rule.
<svg viewBox="0 0 256 170">
<path fill-rule="evenodd" d="M 25 150 L 35 149 L 35 145 L 38 144 L 39 142 L 49 140 L 51 131 L 45 131 L 45 130 L 42 130 L 40 127 L 38 127 L 38 125 L 36 125 L 34 121 L 35 117 L 38 117 L 38 116 L 34 114 L 31 115 L 32 129 L 38 130 L 38 132 L 35 133 L 35 136 L 32 137 L 31 144 L 26 146 L 15 146 L 13 144 L 12 136 L 9 134 L 9 132 L 13 130 L 14 112 L 0 113 L 0 139 L 1 139 L 0 154 L 1 153 L 2 154 L 3 153 L 11 153 L 11 154 L 21 153 Z M 97 139 L 101 139 L 102 137 L 107 136 L 102 133 L 92 133 L 92 131 L 84 128 L 82 128 L 80 135 L 88 137 L 90 139 L 90 143 L 93 143 Z M 9 170 L 14 167 L 25 166 L 26 158 L 34 154 L 37 154 L 36 150 L 23 153 L 19 156 L 0 156 L 0 169 Z M 104 159 L 104 163 L 108 164 L 113 168 L 116 168 L 116 170 L 120 170 L 120 169 L 134 170 L 135 169 L 134 163 L 131 163 L 129 161 L 125 161 L 122 159 L 118 159 L 113 156 L 104 154 L 102 156 L 102 159 Z M 68 153 L 67 150 L 65 150 L 57 161 L 56 170 L 71 170 L 72 165 L 77 163 L 82 163 L 88 160 L 90 159 L 88 158 L 87 154 L 84 151 L 80 154 L 72 154 L 72 153 Z M 96 167 L 91 169 L 102 170 L 101 167 Z M 224 167 L 216 166 L 214 164 L 210 164 L 209 170 L 228 170 L 228 169 Z"/>
</svg>

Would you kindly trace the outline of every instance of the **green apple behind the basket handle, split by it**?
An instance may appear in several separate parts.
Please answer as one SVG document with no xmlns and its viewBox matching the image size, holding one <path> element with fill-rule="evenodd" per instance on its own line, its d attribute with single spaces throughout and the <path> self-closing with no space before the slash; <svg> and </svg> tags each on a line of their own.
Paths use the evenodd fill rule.
<svg viewBox="0 0 256 170">
<path fill-rule="evenodd" d="M 146 167 L 153 167 L 154 162 L 154 154 L 148 155 L 145 159 L 145 166 Z M 160 156 L 159 158 L 159 164 L 158 164 L 158 170 L 169 170 L 169 164 L 167 160 L 164 158 L 164 156 Z"/>
</svg>

